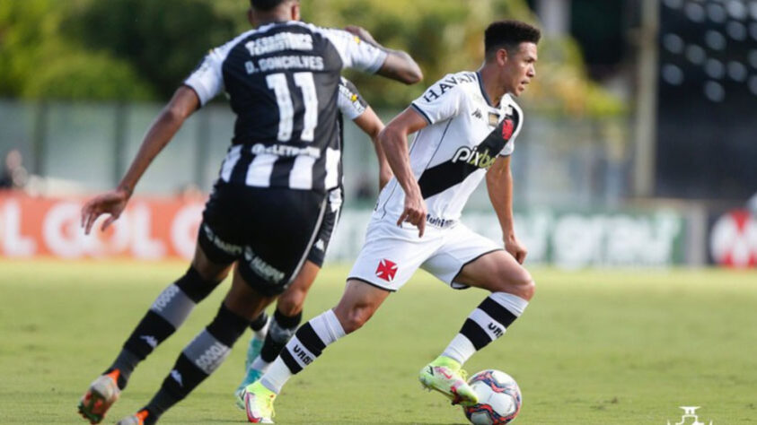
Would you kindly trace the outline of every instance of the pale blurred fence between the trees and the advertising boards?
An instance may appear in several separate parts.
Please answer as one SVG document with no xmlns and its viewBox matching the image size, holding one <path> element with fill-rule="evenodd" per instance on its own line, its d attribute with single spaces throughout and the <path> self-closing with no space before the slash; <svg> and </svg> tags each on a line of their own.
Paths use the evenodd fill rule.
<svg viewBox="0 0 757 425">
<path fill-rule="evenodd" d="M 31 174 L 64 183 L 46 186 L 50 195 L 72 188 L 108 189 L 127 169 L 160 108 L 158 104 L 0 100 L 0 152 L 18 149 Z M 395 113 L 379 115 L 388 121 Z M 232 132 L 233 113 L 227 105 L 202 108 L 154 161 L 137 191 L 175 194 L 188 186 L 207 191 Z M 351 123 L 346 125 L 345 139 L 348 205 L 372 204 L 378 186 L 373 146 Z M 516 204 L 617 204 L 629 195 L 631 152 L 626 118 L 579 119 L 527 111 L 513 157 Z M 481 208 L 488 202 L 485 187 L 480 187 L 470 205 Z"/>
</svg>

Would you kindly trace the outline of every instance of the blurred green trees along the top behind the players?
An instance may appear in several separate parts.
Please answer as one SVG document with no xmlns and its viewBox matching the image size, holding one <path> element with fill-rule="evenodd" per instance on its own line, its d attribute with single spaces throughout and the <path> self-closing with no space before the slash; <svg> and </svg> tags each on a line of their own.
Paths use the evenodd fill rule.
<svg viewBox="0 0 757 425">
<path fill-rule="evenodd" d="M 209 48 L 250 29 L 247 0 L 0 1 L 0 97 L 167 100 Z M 403 86 L 348 77 L 376 108 L 403 108 L 447 73 L 475 70 L 495 19 L 536 22 L 524 0 L 304 0 L 304 20 L 355 24 L 407 50 L 426 80 Z M 530 107 L 616 115 L 626 107 L 587 79 L 571 39 L 544 39 Z"/>
</svg>

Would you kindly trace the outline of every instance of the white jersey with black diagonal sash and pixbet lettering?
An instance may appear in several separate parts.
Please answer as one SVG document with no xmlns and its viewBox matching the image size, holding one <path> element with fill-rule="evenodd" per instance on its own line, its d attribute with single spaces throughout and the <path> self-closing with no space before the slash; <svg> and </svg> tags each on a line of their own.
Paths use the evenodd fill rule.
<svg viewBox="0 0 757 425">
<path fill-rule="evenodd" d="M 411 107 L 429 126 L 418 131 L 410 146 L 410 166 L 426 201 L 428 223 L 445 228 L 460 219 L 497 156 L 513 153 L 523 111 L 509 94 L 492 106 L 480 74 L 471 72 L 447 74 Z M 392 178 L 374 214 L 396 221 L 404 206 L 404 191 Z"/>
</svg>

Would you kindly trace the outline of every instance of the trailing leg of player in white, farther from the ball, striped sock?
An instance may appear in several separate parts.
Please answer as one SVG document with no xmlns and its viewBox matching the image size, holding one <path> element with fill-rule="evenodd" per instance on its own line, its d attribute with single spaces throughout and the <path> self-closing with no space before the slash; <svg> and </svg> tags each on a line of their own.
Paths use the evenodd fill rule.
<svg viewBox="0 0 757 425">
<path fill-rule="evenodd" d="M 290 377 L 310 365 L 323 350 L 365 325 L 391 292 L 349 280 L 337 307 L 300 326 L 260 380 L 247 386 L 244 399 L 251 422 L 270 421 L 273 400 Z"/>
</svg>

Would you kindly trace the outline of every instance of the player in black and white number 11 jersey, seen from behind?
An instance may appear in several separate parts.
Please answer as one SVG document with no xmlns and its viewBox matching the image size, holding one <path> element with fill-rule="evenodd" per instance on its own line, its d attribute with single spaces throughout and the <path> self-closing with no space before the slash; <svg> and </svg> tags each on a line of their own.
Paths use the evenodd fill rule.
<svg viewBox="0 0 757 425">
<path fill-rule="evenodd" d="M 118 188 L 84 205 L 85 232 L 123 212 L 137 181 L 184 120 L 221 91 L 237 119 L 232 147 L 203 212 L 189 271 L 154 301 L 109 369 L 79 403 L 98 423 L 136 365 L 170 336 L 234 267 L 218 314 L 181 352 L 154 398 L 119 424 L 152 424 L 228 355 L 251 320 L 294 280 L 339 186 L 337 91 L 343 68 L 418 82 L 409 55 L 344 30 L 298 22 L 296 0 L 251 0 L 258 27 L 212 49 L 150 127 Z M 254 16 L 254 19 L 253 19 Z"/>
</svg>

